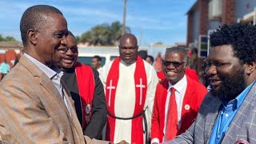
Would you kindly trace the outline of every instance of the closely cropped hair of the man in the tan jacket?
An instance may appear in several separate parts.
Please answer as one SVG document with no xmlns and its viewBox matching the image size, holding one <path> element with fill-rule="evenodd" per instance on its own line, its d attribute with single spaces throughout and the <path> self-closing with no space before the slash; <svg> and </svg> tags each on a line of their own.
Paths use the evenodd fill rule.
<svg viewBox="0 0 256 144">
<path fill-rule="evenodd" d="M 30 29 L 42 30 L 46 22 L 44 17 L 46 14 L 62 14 L 62 12 L 54 6 L 36 5 L 29 7 L 22 14 L 20 31 L 24 46 L 27 42 L 27 31 Z"/>
</svg>

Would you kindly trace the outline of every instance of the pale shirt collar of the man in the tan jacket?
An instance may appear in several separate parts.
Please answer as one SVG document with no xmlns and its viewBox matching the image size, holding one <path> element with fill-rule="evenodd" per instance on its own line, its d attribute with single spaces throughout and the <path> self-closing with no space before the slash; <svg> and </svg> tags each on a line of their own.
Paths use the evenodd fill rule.
<svg viewBox="0 0 256 144">
<path fill-rule="evenodd" d="M 31 57 L 29 54 L 24 53 L 24 56 L 26 58 L 29 58 L 31 62 L 33 62 L 36 66 L 38 66 L 38 68 L 40 70 L 42 70 L 50 79 L 54 78 L 57 74 L 61 77 L 63 72 L 62 70 L 60 70 L 57 66 L 51 66 L 48 67 L 44 64 L 42 64 L 41 62 L 39 62 L 38 60 L 36 60 L 35 58 Z"/>
</svg>

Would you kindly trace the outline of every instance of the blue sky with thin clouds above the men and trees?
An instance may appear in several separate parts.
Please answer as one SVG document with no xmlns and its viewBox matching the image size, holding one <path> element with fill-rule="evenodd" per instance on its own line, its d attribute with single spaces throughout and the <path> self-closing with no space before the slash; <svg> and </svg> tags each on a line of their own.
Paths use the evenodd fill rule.
<svg viewBox="0 0 256 144">
<path fill-rule="evenodd" d="M 154 42 L 186 42 L 186 12 L 194 2 L 196 0 L 127 0 L 126 26 L 142 46 Z M 74 35 L 102 23 L 122 22 L 123 0 L 1 0 L 0 34 L 21 41 L 22 13 L 38 4 L 61 10 Z"/>
</svg>

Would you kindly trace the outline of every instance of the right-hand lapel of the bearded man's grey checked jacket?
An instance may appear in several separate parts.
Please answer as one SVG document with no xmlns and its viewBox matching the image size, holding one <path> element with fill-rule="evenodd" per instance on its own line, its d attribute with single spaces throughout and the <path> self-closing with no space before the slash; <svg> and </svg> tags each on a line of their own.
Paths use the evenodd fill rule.
<svg viewBox="0 0 256 144">
<path fill-rule="evenodd" d="M 233 121 L 230 123 L 230 127 L 227 130 L 222 142 L 233 142 L 234 138 L 230 137 L 234 134 L 237 134 L 238 130 L 241 128 L 242 123 L 246 120 L 246 115 L 250 114 L 250 110 L 255 105 L 254 102 L 256 101 L 256 84 L 250 89 L 249 93 L 246 95 L 246 98 L 242 102 L 241 106 L 239 107 L 237 113 L 234 116 Z M 230 135 L 228 137 L 228 135 Z"/>
</svg>

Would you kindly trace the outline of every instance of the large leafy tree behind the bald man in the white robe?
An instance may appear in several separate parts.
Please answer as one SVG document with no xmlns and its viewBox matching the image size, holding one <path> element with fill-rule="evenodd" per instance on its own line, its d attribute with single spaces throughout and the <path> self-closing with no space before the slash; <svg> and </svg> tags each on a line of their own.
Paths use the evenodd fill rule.
<svg viewBox="0 0 256 144">
<path fill-rule="evenodd" d="M 130 33 L 130 28 L 126 27 L 126 33 Z M 121 38 L 122 24 L 120 22 L 112 22 L 94 26 L 91 30 L 81 35 L 78 42 L 89 42 L 90 45 L 96 46 L 114 46 L 115 42 Z"/>
</svg>

